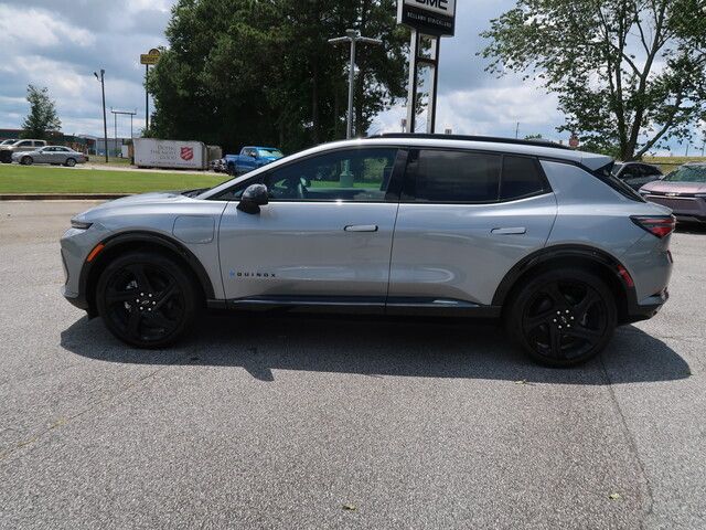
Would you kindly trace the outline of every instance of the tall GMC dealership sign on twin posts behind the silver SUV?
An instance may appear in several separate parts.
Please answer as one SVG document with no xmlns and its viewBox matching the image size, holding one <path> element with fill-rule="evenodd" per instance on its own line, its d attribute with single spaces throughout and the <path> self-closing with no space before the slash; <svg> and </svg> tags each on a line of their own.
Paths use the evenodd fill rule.
<svg viewBox="0 0 706 530">
<path fill-rule="evenodd" d="M 439 49 L 442 36 L 456 30 L 456 0 L 397 0 L 397 23 L 411 29 L 409 41 L 409 88 L 407 92 L 407 131 L 415 132 L 419 66 L 431 71 L 427 132 L 435 132 Z M 425 54 L 428 52 L 428 54 Z"/>
</svg>

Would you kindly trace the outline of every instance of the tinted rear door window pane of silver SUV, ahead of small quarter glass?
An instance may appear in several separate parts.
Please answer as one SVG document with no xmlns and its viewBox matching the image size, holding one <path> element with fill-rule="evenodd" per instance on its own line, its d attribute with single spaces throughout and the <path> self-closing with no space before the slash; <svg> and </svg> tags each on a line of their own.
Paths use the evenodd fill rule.
<svg viewBox="0 0 706 530">
<path fill-rule="evenodd" d="M 414 195 L 422 202 L 496 201 L 499 155 L 421 150 L 416 161 Z"/>
</svg>

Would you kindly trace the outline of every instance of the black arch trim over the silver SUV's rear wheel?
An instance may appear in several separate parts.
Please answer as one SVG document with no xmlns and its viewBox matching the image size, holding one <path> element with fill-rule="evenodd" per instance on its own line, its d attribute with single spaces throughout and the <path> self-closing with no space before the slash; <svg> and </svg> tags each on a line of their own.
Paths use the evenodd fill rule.
<svg viewBox="0 0 706 530">
<path fill-rule="evenodd" d="M 522 261 L 516 263 L 502 279 L 495 295 L 493 296 L 493 306 L 503 306 L 507 300 L 507 297 L 512 289 L 515 287 L 517 280 L 530 269 L 547 264 L 554 259 L 561 258 L 580 258 L 591 262 L 596 265 L 605 267 L 607 272 L 613 274 L 618 283 L 622 287 L 625 295 L 627 312 L 633 315 L 638 312 L 638 295 L 634 286 L 629 286 L 618 274 L 619 267 L 624 267 L 622 263 L 614 256 L 608 254 L 605 251 L 595 248 L 588 245 L 580 244 L 564 244 L 554 245 L 533 252 Z"/>
</svg>

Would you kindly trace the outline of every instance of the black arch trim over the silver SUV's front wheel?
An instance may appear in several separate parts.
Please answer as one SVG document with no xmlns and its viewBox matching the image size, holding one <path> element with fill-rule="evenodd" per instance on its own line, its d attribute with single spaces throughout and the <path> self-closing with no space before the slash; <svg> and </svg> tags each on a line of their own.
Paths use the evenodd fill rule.
<svg viewBox="0 0 706 530">
<path fill-rule="evenodd" d="M 167 251 L 171 251 L 178 254 L 184 259 L 186 265 L 190 267 L 190 269 L 194 273 L 194 275 L 199 279 L 199 284 L 203 289 L 203 294 L 205 298 L 206 299 L 215 298 L 215 290 L 213 288 L 211 278 L 208 277 L 206 269 L 201 264 L 199 258 L 189 248 L 186 248 L 181 243 L 172 240 L 169 236 L 165 236 L 163 234 L 157 234 L 153 232 L 143 232 L 143 231 L 125 232 L 125 233 L 113 235 L 107 240 L 101 241 L 100 243 L 105 245 L 105 247 L 100 251 L 100 254 L 98 254 L 98 259 L 96 259 L 95 262 L 84 262 L 84 265 L 81 269 L 81 275 L 78 277 L 79 295 L 78 295 L 78 299 L 76 300 L 77 304 L 74 303 L 74 305 L 77 305 L 78 307 L 85 307 L 86 310 L 88 311 L 88 316 L 92 318 L 97 316 L 97 311 L 95 308 L 95 300 L 93 300 L 93 298 L 88 294 L 88 287 L 89 287 L 88 282 L 93 279 L 92 272 L 94 271 L 94 267 L 97 264 L 103 263 L 100 259 L 101 254 L 105 254 L 107 251 L 110 251 L 111 248 L 115 248 L 116 246 L 120 246 L 120 245 L 129 245 L 135 243 L 149 243 L 151 245 L 158 245 Z"/>
</svg>

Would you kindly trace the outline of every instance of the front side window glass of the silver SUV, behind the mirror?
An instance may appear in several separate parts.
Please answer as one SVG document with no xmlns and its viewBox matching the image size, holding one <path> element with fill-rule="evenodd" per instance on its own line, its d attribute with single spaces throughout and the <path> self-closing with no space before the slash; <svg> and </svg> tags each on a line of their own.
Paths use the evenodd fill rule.
<svg viewBox="0 0 706 530">
<path fill-rule="evenodd" d="M 272 201 L 382 202 L 396 156 L 395 148 L 327 152 L 270 171 L 265 184 Z"/>
</svg>

